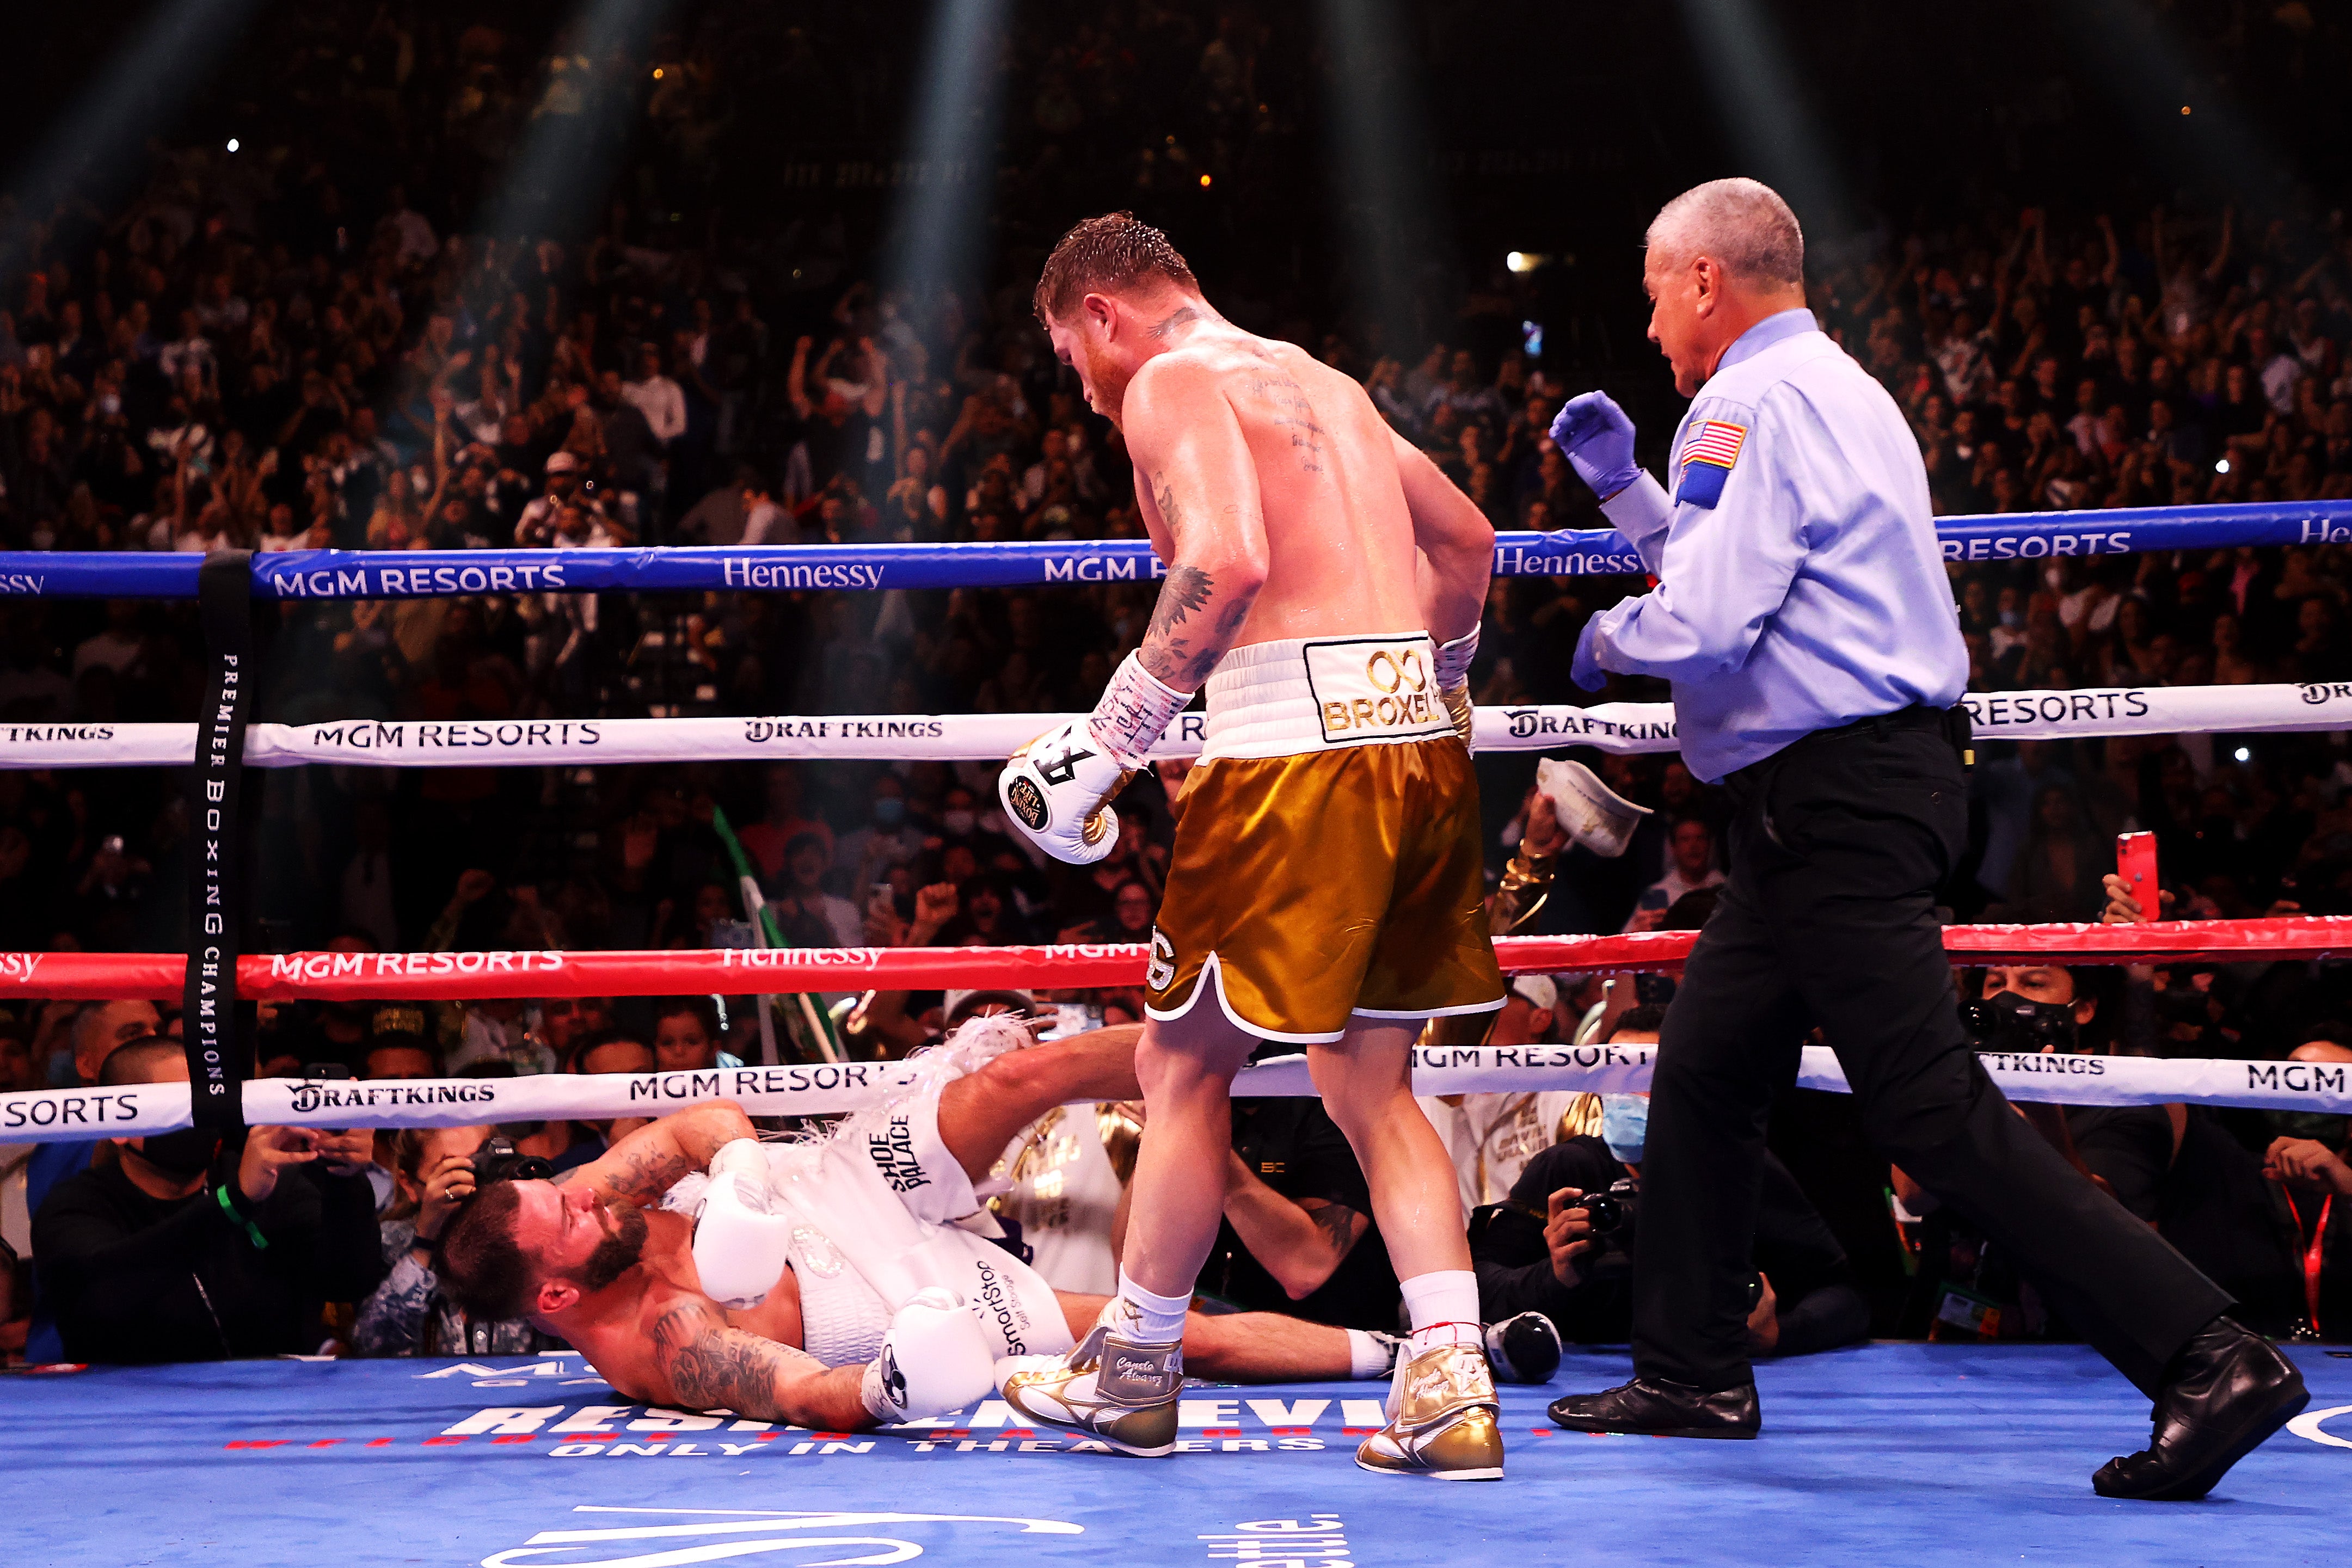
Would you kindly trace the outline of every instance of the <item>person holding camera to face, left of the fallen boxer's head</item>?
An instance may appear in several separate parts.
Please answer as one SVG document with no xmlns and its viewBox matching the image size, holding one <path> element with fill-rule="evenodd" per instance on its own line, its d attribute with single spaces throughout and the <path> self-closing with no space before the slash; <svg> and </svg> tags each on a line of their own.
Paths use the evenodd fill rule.
<svg viewBox="0 0 2352 1568">
<path fill-rule="evenodd" d="M 642 1046 L 640 1046 L 642 1051 Z M 529 1356 L 562 1340 L 522 1319 L 480 1321 L 442 1295 L 433 1246 L 475 1192 L 475 1154 L 494 1126 L 405 1128 L 395 1140 L 400 1199 L 386 1211 L 383 1284 L 360 1302 L 350 1347 L 362 1356 Z"/>
</svg>

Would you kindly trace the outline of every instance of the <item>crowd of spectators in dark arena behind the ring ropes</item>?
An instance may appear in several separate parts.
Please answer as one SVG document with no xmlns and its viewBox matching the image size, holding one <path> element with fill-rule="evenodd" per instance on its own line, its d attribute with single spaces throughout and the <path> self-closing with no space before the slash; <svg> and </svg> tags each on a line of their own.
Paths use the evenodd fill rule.
<svg viewBox="0 0 2352 1568">
<path fill-rule="evenodd" d="M 830 129 L 894 122 L 887 94 L 863 87 L 856 24 L 767 35 L 757 9 L 713 7 L 701 33 L 666 35 L 642 59 L 560 54 L 550 73 L 513 38 L 430 7 L 315 7 L 278 42 L 285 101 L 245 150 L 176 146 L 111 207 L 9 214 L 0 548 L 1141 538 L 1120 433 L 1051 357 L 1018 268 L 995 289 L 910 294 L 816 197 L 781 233 L 717 221 L 715 148 L 741 134 L 750 96 L 729 80 L 753 54 L 736 47 L 746 38 L 793 85 L 774 113 Z M 1056 207 L 1082 186 L 1080 160 L 1122 167 L 1134 205 L 1164 216 L 1291 134 L 1268 24 L 1240 7 L 1136 12 L 1131 47 L 1080 31 L 1009 68 L 1018 141 L 1037 153 L 1000 190 L 1016 240 L 1080 216 Z M 550 118 L 612 103 L 644 139 L 640 188 L 612 219 L 562 240 L 487 233 L 475 214 L 513 148 Z M 303 129 L 327 110 L 343 141 Z M 1181 129 L 1164 141 L 1134 129 L 1160 125 Z M 1094 134 L 1103 127 L 1115 132 Z M 355 158 L 358 141 L 381 146 Z M 1025 252 L 1007 242 L 1007 254 Z M 1602 367 L 1498 336 L 1515 299 L 1472 280 L 1456 315 L 1402 346 L 1202 270 L 1211 301 L 1256 301 L 1249 324 L 1357 374 L 1498 529 L 1602 527 L 1545 435 Z M 1820 244 L 1809 299 L 1905 409 L 1938 512 L 2352 498 L 2340 214 L 1985 195 L 1959 216 Z M 1644 421 L 1649 456 L 1668 430 L 1665 416 Z M 1597 696 L 1569 684 L 1585 618 L 1642 588 L 1496 581 L 1479 703 L 1663 701 L 1656 682 L 1616 677 Z M 2345 545 L 1955 564 L 1952 592 L 1973 691 L 2352 679 Z M 1068 712 L 1091 705 L 1150 604 L 1148 583 L 299 602 L 266 632 L 261 717 Z M 188 607 L 12 597 L 0 625 L 5 724 L 193 717 L 202 644 Z M 1656 809 L 1618 860 L 1557 842 L 1531 797 L 1534 757 L 1479 759 L 1491 877 L 1526 853 L 1550 879 L 1517 929 L 1703 922 L 1722 882 L 1717 792 L 1670 755 L 1588 759 Z M 734 839 L 781 945 L 1138 943 L 1178 780 L 1181 769 L 1138 778 L 1115 853 L 1068 867 L 1009 832 L 993 764 L 289 769 L 259 785 L 254 898 L 282 950 L 753 945 Z M 2169 914 L 2352 914 L 2347 790 L 2343 733 L 1983 745 L 1950 905 L 1955 919 L 2138 914 L 2110 903 L 2103 875 L 2117 832 L 2150 830 Z M 188 853 L 172 776 L 0 771 L 0 947 L 174 952 Z M 2352 1060 L 2352 973 L 2338 964 L 2037 966 L 1971 971 L 1964 985 L 2070 1011 L 2067 1048 Z M 1639 1044 L 1668 990 L 1522 978 L 1494 1039 Z M 849 1004 L 847 1048 L 870 1056 L 920 1048 L 957 1001 L 976 1006 L 938 992 L 821 1006 L 833 1001 Z M 1136 992 L 1009 1001 L 1068 1001 L 1087 1023 L 1141 1016 Z M 0 1013 L 0 1088 L 155 1081 L 174 1067 L 176 1030 L 172 1009 L 146 1001 Z M 139 1044 L 158 1034 L 174 1044 Z M 804 1046 L 786 1032 L 786 1051 Z M 263 1011 L 256 1065 L 369 1079 L 642 1072 L 762 1048 L 748 997 L 296 1004 Z M 1776 1119 L 1788 1164 L 1769 1175 L 1759 1349 L 1870 1331 L 2063 1331 L 1962 1220 L 1907 1206 L 1919 1194 L 1816 1100 Z M 1623 1338 L 1623 1253 L 1616 1272 L 1595 1269 L 1609 1248 L 1564 1227 L 1548 1197 L 1637 1175 L 1639 1138 L 1604 1138 L 1602 1107 L 1569 1095 L 1475 1095 L 1439 1117 L 1454 1117 L 1491 1312 L 1541 1309 L 1571 1338 Z M 1101 1138 L 1087 1126 L 1007 1157 L 1007 1204 L 1033 1232 L 1101 1232 L 1098 1248 L 1068 1248 L 1073 1279 L 1108 1267 L 1134 1131 L 1115 1107 L 1098 1121 Z M 315 1150 L 261 1131 L 219 1157 L 240 1192 L 219 1211 L 191 1197 L 207 1190 L 209 1150 L 158 1152 L 155 1138 L 129 1157 L 9 1150 L 31 1168 L 33 1246 L 16 1251 L 40 1281 L 16 1272 L 0 1312 L 9 1349 L 26 1335 L 33 1359 L 310 1352 L 322 1338 L 358 1354 L 534 1349 L 529 1324 L 468 1321 L 433 1286 L 452 1182 L 492 1131 L 353 1133 Z M 626 1131 L 506 1128 L 557 1166 Z M 2058 1114 L 2049 1131 L 2279 1331 L 2352 1333 L 2352 1244 L 2317 1218 L 2328 1192 L 2352 1197 L 2343 1117 L 2154 1107 Z M 1237 1307 L 1392 1326 L 1395 1276 L 1329 1119 L 1310 1103 L 1251 1105 L 1235 1147 L 1235 1225 L 1202 1288 Z M 1249 1220 L 1263 1190 L 1336 1206 L 1338 1225 L 1317 1222 L 1334 1255 L 1254 1253 L 1251 1234 L 1272 1234 Z M 261 1251 L 263 1237 L 278 1246 Z M 2324 1251 L 2310 1291 L 2305 1251 Z M 212 1260 L 195 1265 L 212 1295 L 181 1288 L 191 1258 Z"/>
</svg>

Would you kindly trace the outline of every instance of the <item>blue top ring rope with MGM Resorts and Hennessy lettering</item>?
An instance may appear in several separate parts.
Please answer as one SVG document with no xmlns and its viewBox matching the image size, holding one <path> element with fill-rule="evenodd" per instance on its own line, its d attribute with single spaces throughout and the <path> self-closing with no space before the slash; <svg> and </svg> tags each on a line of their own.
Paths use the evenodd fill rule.
<svg viewBox="0 0 2352 1568">
<path fill-rule="evenodd" d="M 2234 501 L 1938 517 L 1947 562 L 2145 555 L 2352 541 L 2352 501 Z M 0 550 L 0 597 L 193 599 L 205 557 Z M 261 599 L 428 599 L 473 592 L 741 592 L 1148 583 L 1148 541 L 908 545 L 687 545 L 635 550 L 275 550 L 254 555 Z M 1644 571 L 1616 529 L 1496 534 L 1496 576 Z"/>
</svg>

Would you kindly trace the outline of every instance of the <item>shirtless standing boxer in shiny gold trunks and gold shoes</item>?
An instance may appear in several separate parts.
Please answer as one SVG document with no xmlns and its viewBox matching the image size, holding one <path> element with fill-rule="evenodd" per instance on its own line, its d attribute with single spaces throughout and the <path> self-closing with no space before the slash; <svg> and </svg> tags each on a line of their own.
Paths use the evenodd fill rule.
<svg viewBox="0 0 2352 1568">
<path fill-rule="evenodd" d="M 1411 1309 L 1390 1422 L 1357 1462 L 1501 1479 L 1454 1166 L 1411 1091 L 1421 1020 L 1503 1006 L 1465 748 L 1494 531 L 1364 388 L 1218 317 L 1148 223 L 1073 228 L 1037 317 L 1127 437 L 1167 583 L 1094 712 L 1004 769 L 1007 816 L 1063 860 L 1098 860 L 1117 842 L 1110 797 L 1204 682 L 1209 729 L 1152 931 L 1120 1295 L 1004 1399 L 1127 1453 L 1174 1448 L 1230 1081 L 1275 1039 L 1305 1046 Z M 1317 1220 L 1334 1248 L 1364 1222 Z"/>
</svg>

